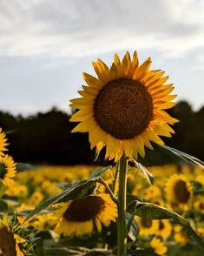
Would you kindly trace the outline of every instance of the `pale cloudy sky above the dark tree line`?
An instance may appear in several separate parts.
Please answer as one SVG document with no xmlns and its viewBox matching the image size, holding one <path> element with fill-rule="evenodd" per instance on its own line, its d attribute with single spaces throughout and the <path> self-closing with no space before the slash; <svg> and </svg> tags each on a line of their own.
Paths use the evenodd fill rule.
<svg viewBox="0 0 204 256">
<path fill-rule="evenodd" d="M 135 50 L 204 105 L 203 0 L 0 0 L 0 110 L 69 112 L 92 61 Z"/>
</svg>

